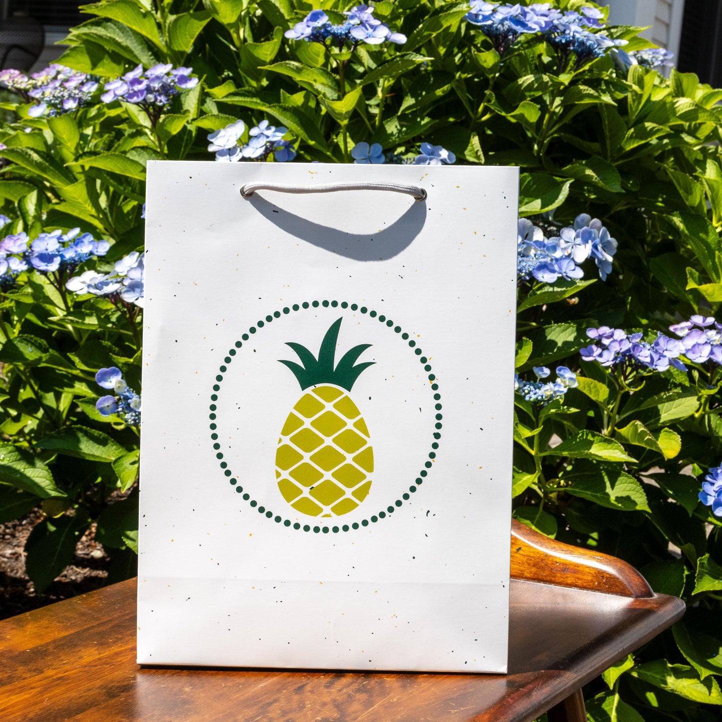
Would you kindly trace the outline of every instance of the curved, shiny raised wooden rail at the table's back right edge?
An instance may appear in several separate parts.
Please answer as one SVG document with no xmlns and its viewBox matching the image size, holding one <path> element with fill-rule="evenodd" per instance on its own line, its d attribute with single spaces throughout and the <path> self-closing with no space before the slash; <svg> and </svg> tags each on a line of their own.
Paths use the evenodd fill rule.
<svg viewBox="0 0 722 722">
<path fill-rule="evenodd" d="M 645 578 L 627 562 L 549 539 L 516 521 L 511 527 L 511 577 L 648 599 Z"/>
</svg>

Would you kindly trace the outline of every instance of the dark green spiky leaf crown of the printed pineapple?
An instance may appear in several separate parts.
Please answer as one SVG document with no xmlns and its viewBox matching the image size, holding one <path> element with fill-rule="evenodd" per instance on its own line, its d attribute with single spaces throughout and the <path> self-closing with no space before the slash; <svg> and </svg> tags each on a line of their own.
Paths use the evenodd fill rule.
<svg viewBox="0 0 722 722">
<path fill-rule="evenodd" d="M 323 336 L 321 349 L 318 350 L 318 359 L 301 344 L 288 342 L 299 357 L 301 363 L 295 361 L 282 361 L 282 364 L 290 368 L 295 375 L 296 380 L 300 383 L 301 390 L 305 390 L 309 386 L 321 386 L 324 383 L 333 383 L 335 386 L 345 388 L 351 391 L 351 387 L 356 383 L 362 371 L 373 366 L 373 361 L 366 361 L 356 364 L 356 361 L 371 344 L 359 344 L 349 349 L 341 358 L 334 368 L 334 357 L 336 356 L 336 342 L 339 339 L 339 329 L 341 328 L 342 318 L 334 321 L 331 328 L 326 331 Z M 355 365 L 356 364 L 356 365 Z"/>
</svg>

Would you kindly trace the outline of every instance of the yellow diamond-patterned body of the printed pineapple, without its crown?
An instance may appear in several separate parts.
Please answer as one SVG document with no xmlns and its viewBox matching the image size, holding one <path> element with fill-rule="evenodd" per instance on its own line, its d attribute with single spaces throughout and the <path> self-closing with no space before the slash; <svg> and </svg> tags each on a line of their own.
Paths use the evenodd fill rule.
<svg viewBox="0 0 722 722">
<path fill-rule="evenodd" d="M 343 388 L 306 389 L 288 414 L 276 451 L 284 499 L 308 516 L 341 516 L 365 500 L 373 474 L 366 422 Z"/>
</svg>

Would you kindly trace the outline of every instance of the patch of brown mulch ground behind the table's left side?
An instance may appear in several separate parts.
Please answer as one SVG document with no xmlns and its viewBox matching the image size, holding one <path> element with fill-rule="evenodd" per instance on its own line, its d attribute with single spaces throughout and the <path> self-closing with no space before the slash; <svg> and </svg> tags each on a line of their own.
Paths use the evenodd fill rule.
<svg viewBox="0 0 722 722">
<path fill-rule="evenodd" d="M 102 587 L 108 580 L 110 557 L 95 541 L 95 524 L 79 541 L 75 557 L 43 594 L 35 590 L 25 574 L 25 540 L 43 518 L 40 509 L 0 524 L 0 619 L 38 609 Z"/>
</svg>

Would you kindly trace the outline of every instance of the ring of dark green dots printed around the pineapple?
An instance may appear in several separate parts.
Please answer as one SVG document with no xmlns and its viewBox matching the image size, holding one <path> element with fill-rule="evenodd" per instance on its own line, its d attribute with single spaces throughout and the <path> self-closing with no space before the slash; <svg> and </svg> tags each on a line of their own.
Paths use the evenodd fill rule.
<svg viewBox="0 0 722 722">
<path fill-rule="evenodd" d="M 256 326 L 251 326 L 248 329 L 247 334 L 241 335 L 241 337 L 240 337 L 242 339 L 241 341 L 237 341 L 237 342 L 235 342 L 235 344 L 233 344 L 234 348 L 230 349 L 228 352 L 228 355 L 223 359 L 224 365 L 219 367 L 219 371 L 221 371 L 222 373 L 225 373 L 227 371 L 227 366 L 230 365 L 230 363 L 233 360 L 233 357 L 236 355 L 236 349 L 243 348 L 243 342 L 248 341 L 248 339 L 250 338 L 250 336 L 248 336 L 248 334 L 255 334 L 256 331 L 258 331 L 259 329 L 263 329 L 264 326 L 266 326 L 266 324 L 274 321 L 274 318 L 281 318 L 282 315 L 287 316 L 292 312 L 302 310 L 302 309 L 306 310 L 308 308 L 318 308 L 319 306 L 322 306 L 323 308 L 329 308 L 329 306 L 331 306 L 331 308 L 336 308 L 339 305 L 341 308 L 351 308 L 351 310 L 353 310 L 353 311 L 359 310 L 363 314 L 368 314 L 368 316 L 370 316 L 370 318 L 375 318 L 376 321 L 380 321 L 380 323 L 382 323 L 384 326 L 387 326 L 389 329 L 393 329 L 393 331 L 396 334 L 401 334 L 401 339 L 408 343 L 409 348 L 414 349 L 414 355 L 417 357 L 417 360 L 424 367 L 424 370 L 427 373 L 429 373 L 431 371 L 431 365 L 428 362 L 429 360 L 427 359 L 427 357 L 422 355 L 423 354 L 422 349 L 420 349 L 416 346 L 416 342 L 413 339 L 409 340 L 409 334 L 407 334 L 405 331 L 402 332 L 401 326 L 394 326 L 394 322 L 391 320 L 391 318 L 388 318 L 387 316 L 384 316 L 383 314 L 379 314 L 377 311 L 375 311 L 373 309 L 368 309 L 368 308 L 366 308 L 366 306 L 359 307 L 359 305 L 357 305 L 356 303 L 352 303 L 349 305 L 349 303 L 347 301 L 342 301 L 341 303 L 339 303 L 339 301 L 335 301 L 335 300 L 334 301 L 328 301 L 328 300 L 311 301 L 310 303 L 308 301 L 304 301 L 301 305 L 294 303 L 290 308 L 286 306 L 281 311 L 274 311 L 272 314 L 269 313 L 269 315 L 266 316 L 265 323 L 264 323 L 264 321 L 257 321 Z M 222 380 L 223 380 L 222 373 L 217 375 L 215 378 L 217 383 L 214 383 L 212 386 L 214 392 L 220 391 L 219 384 L 222 383 Z M 429 374 L 428 378 L 429 378 L 429 382 L 430 382 L 432 391 L 435 392 L 434 393 L 434 401 L 437 402 L 435 404 L 435 411 L 438 412 L 438 411 L 440 411 L 440 409 L 442 407 L 441 404 L 438 403 L 441 399 L 441 394 L 438 393 L 439 386 L 438 386 L 438 383 L 436 383 L 438 381 L 438 379 L 432 373 Z M 217 411 L 217 404 L 215 404 L 215 402 L 218 401 L 217 393 L 211 394 L 211 401 L 214 403 L 212 403 L 209 406 L 209 409 L 211 412 L 209 414 L 209 419 L 211 419 L 211 421 L 214 421 L 216 419 L 215 412 Z M 442 427 L 441 418 L 442 418 L 442 414 L 435 414 L 436 423 L 434 425 L 435 432 L 433 435 L 435 442 L 432 443 L 432 445 L 431 445 L 432 451 L 430 451 L 430 453 L 428 454 L 428 458 L 430 458 L 430 459 L 436 458 L 435 450 L 439 448 L 438 440 L 441 438 L 441 434 L 440 434 L 439 430 Z M 213 433 L 211 434 L 211 439 L 215 442 L 213 444 L 213 448 L 215 451 L 217 451 L 216 458 L 219 459 L 221 469 L 224 470 L 223 474 L 225 475 L 225 477 L 231 477 L 230 479 L 228 479 L 231 486 L 235 489 L 236 492 L 238 492 L 239 494 L 243 494 L 243 487 L 240 486 L 240 484 L 238 483 L 238 479 L 236 477 L 233 477 L 233 472 L 230 469 L 228 469 L 227 462 L 223 461 L 222 451 L 218 451 L 220 448 L 220 444 L 216 442 L 216 439 L 218 438 L 217 433 L 215 433 L 216 425 L 213 423 L 210 425 L 210 427 L 213 430 Z M 422 477 L 427 476 L 427 473 L 428 473 L 427 469 L 430 469 L 433 466 L 432 461 L 425 461 L 424 466 L 425 466 L 425 468 L 422 469 L 421 471 L 419 471 L 419 477 L 417 477 L 417 479 L 415 479 L 414 484 L 412 484 L 409 487 L 409 492 L 411 492 L 412 494 L 414 492 L 416 492 L 417 487 L 421 486 L 421 484 L 424 482 L 424 478 L 422 478 Z M 380 519 L 384 519 L 387 516 L 391 516 L 391 514 L 396 510 L 396 508 L 401 507 L 404 504 L 404 501 L 409 500 L 410 497 L 409 497 L 408 493 L 404 492 L 404 494 L 401 495 L 401 499 L 396 499 L 396 501 L 394 501 L 393 506 L 388 506 L 386 508 L 386 510 L 381 510 L 377 514 L 370 516 L 370 518 L 368 518 L 368 519 L 362 519 L 360 522 L 360 525 L 357 521 L 355 521 L 354 523 L 351 524 L 351 526 L 349 526 L 348 524 L 344 524 L 343 526 L 340 526 L 340 527 L 339 526 L 313 526 L 313 527 L 311 527 L 309 524 L 304 524 L 303 526 L 301 526 L 300 523 L 292 522 L 290 519 L 284 519 L 278 515 L 274 516 L 274 512 L 272 512 L 269 509 L 266 509 L 264 506 L 258 505 L 258 502 L 255 499 L 251 499 L 251 496 L 248 493 L 243 494 L 242 498 L 244 501 L 247 501 L 251 505 L 251 507 L 256 508 L 256 511 L 258 511 L 259 514 L 261 514 L 262 516 L 266 516 L 266 518 L 272 519 L 276 523 L 283 523 L 283 526 L 287 526 L 289 528 L 292 526 L 292 528 L 297 531 L 298 530 L 303 530 L 305 532 L 313 531 L 315 534 L 318 534 L 318 533 L 329 534 L 329 531 L 331 531 L 333 534 L 338 534 L 339 531 L 346 532 L 346 531 L 352 531 L 355 529 L 359 529 L 360 526 L 361 527 L 368 526 L 369 521 L 371 523 L 377 523 Z"/>
</svg>

